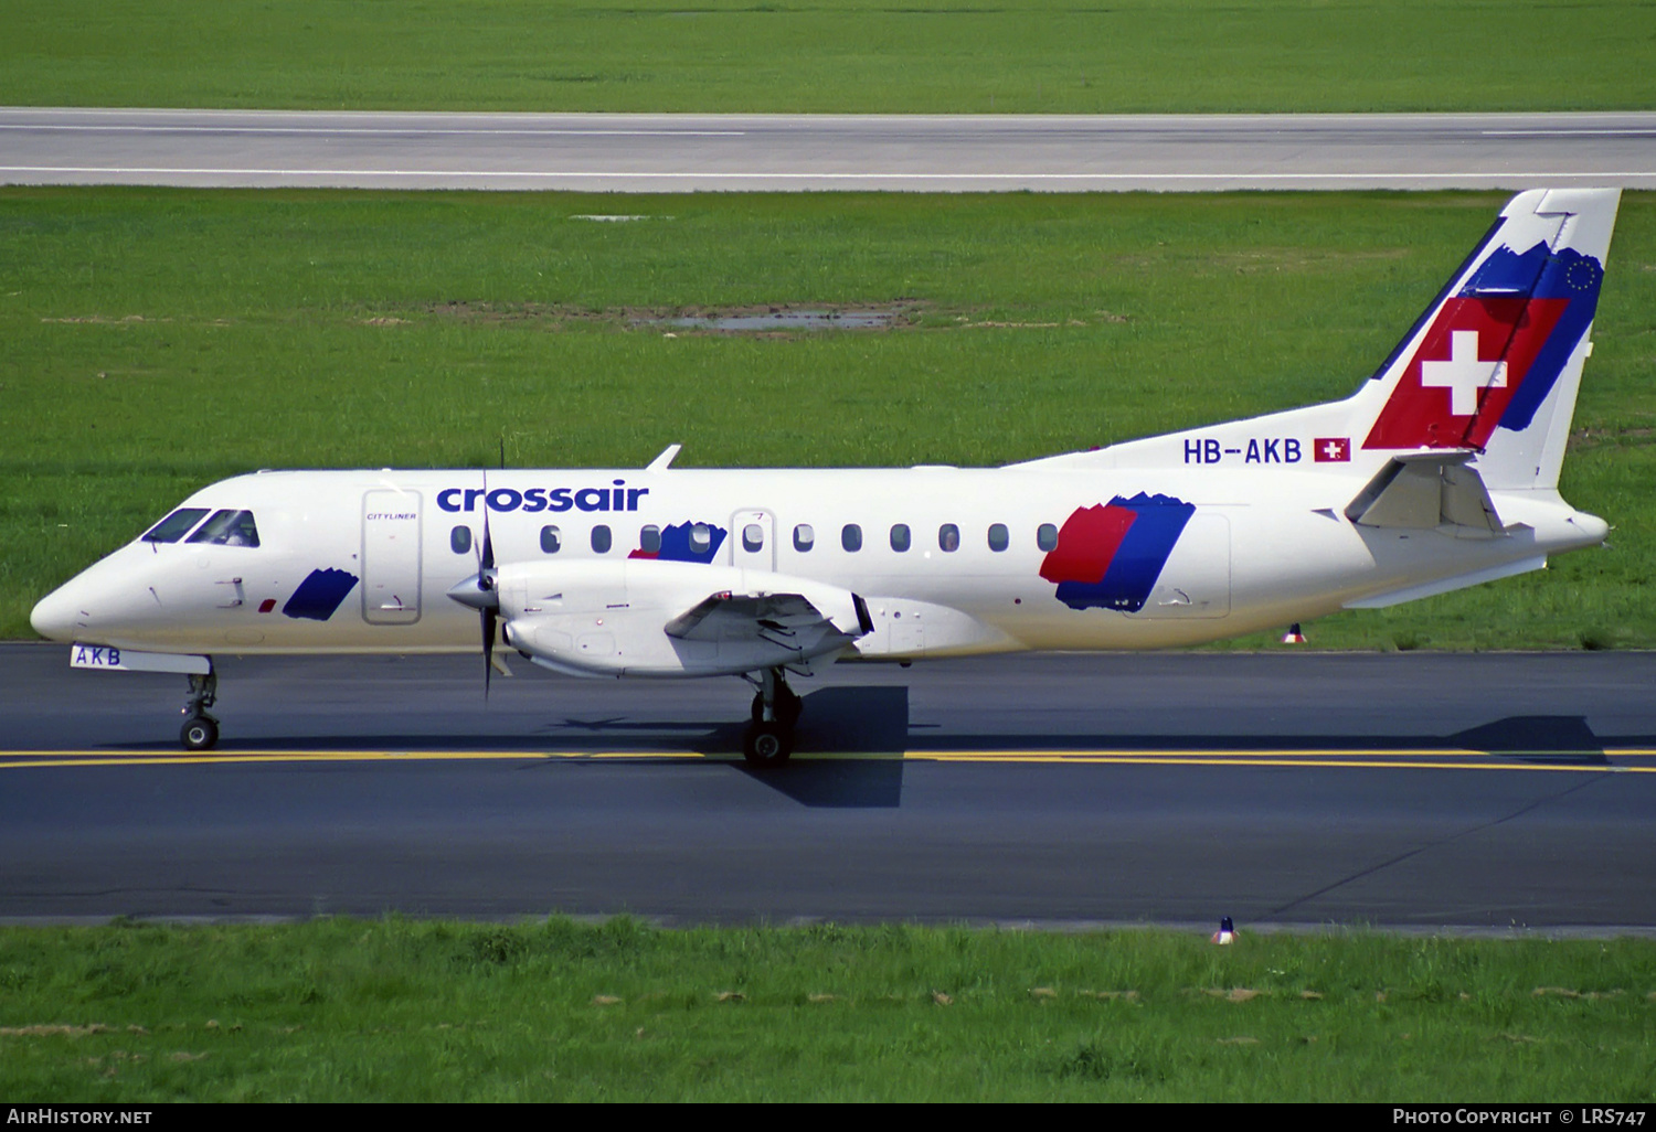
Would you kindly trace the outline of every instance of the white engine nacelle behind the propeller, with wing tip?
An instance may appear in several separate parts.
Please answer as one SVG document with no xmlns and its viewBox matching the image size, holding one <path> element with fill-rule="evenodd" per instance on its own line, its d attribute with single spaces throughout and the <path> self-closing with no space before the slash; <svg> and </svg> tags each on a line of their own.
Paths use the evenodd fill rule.
<svg viewBox="0 0 1656 1132">
<path fill-rule="evenodd" d="M 840 652 L 871 627 L 848 589 L 735 566 L 508 563 L 497 589 L 507 644 L 575 675 L 757 672 Z"/>
</svg>

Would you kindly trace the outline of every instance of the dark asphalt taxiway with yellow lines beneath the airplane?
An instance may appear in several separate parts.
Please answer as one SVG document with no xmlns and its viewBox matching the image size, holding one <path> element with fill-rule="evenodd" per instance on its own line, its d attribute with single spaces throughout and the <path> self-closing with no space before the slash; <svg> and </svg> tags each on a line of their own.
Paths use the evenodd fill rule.
<svg viewBox="0 0 1656 1132">
<path fill-rule="evenodd" d="M 737 680 L 225 657 L 200 758 L 181 677 L 66 665 L 0 645 L 8 920 L 1656 930 L 1651 654 L 838 665 L 768 773 Z"/>
</svg>

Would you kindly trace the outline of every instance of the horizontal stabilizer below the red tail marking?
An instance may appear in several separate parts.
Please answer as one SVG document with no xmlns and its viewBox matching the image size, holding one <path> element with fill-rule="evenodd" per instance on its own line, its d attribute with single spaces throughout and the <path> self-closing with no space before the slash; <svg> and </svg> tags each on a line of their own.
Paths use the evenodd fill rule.
<svg viewBox="0 0 1656 1132">
<path fill-rule="evenodd" d="M 1467 465 L 1474 455 L 1464 448 L 1394 455 L 1346 505 L 1345 515 L 1358 526 L 1427 531 L 1461 526 L 1479 535 L 1502 535 L 1505 526 L 1484 477 Z"/>
</svg>

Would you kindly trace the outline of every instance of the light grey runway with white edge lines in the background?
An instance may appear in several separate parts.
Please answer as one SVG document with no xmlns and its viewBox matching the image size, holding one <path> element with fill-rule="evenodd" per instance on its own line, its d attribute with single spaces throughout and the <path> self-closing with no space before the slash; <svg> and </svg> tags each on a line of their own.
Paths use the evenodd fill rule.
<svg viewBox="0 0 1656 1132">
<path fill-rule="evenodd" d="M 1225 190 L 1656 187 L 1656 113 L 783 116 L 0 109 L 0 182 Z"/>
</svg>

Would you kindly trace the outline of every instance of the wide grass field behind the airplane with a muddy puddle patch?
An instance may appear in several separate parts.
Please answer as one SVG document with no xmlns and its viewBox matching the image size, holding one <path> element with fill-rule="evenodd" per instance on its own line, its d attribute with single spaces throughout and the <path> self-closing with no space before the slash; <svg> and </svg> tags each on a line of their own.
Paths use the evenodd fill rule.
<svg viewBox="0 0 1656 1132">
<path fill-rule="evenodd" d="M 1345 396 L 1489 194 L 0 190 L 0 636 L 258 467 L 1002 463 Z M 638 213 L 598 223 L 590 213 Z M 888 305 L 888 331 L 641 318 Z M 1656 647 L 1656 199 L 1623 200 L 1553 569 L 1323 647 Z M 1242 640 L 1244 647 L 1267 637 Z"/>
</svg>

